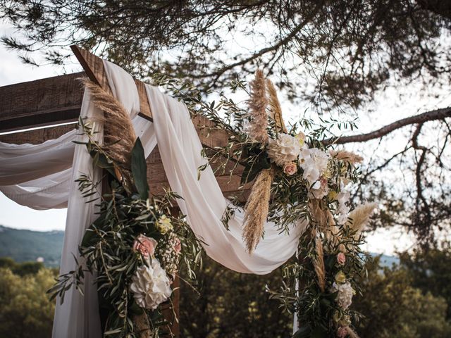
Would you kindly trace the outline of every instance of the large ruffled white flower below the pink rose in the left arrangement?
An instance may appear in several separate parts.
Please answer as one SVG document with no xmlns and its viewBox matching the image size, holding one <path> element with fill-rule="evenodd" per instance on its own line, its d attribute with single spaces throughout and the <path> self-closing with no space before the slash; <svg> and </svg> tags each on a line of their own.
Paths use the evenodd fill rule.
<svg viewBox="0 0 451 338">
<path fill-rule="evenodd" d="M 152 310 L 172 294 L 168 275 L 156 258 L 152 259 L 151 266 L 142 265 L 137 268 L 132 276 L 130 290 L 138 306 Z"/>
</svg>

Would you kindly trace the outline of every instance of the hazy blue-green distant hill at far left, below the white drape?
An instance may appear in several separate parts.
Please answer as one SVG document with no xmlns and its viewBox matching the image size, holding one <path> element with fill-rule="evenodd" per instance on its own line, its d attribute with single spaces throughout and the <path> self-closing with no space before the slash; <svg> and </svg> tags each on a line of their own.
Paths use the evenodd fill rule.
<svg viewBox="0 0 451 338">
<path fill-rule="evenodd" d="M 45 265 L 58 266 L 63 239 L 63 231 L 19 230 L 0 225 L 0 257 L 11 257 L 17 262 L 44 258 Z"/>
</svg>

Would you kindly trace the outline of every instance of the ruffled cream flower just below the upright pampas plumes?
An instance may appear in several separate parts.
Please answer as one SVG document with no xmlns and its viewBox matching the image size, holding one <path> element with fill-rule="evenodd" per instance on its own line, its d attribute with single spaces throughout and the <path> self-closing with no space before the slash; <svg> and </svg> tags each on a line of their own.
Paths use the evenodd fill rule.
<svg viewBox="0 0 451 338">
<path fill-rule="evenodd" d="M 299 156 L 299 140 L 290 134 L 280 133 L 277 139 L 269 139 L 268 156 L 271 162 L 283 167 L 285 163 L 295 161 Z"/>
</svg>

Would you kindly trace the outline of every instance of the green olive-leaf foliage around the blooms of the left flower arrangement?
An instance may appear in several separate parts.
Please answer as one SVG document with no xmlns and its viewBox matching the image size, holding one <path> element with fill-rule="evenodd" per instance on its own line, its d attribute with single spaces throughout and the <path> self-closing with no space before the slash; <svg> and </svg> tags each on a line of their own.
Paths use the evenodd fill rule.
<svg viewBox="0 0 451 338">
<path fill-rule="evenodd" d="M 93 137 L 97 133 L 95 123 L 80 118 L 79 124 L 87 142 L 78 144 L 87 147 L 94 166 L 106 170 L 104 180 L 109 183 L 109 189 L 100 196 L 97 189 L 100 182 L 93 182 L 89 175 L 80 175 L 76 180 L 82 196 L 89 199 L 87 203 L 97 202 L 98 217 L 85 231 L 79 247 L 80 258 L 74 256 L 75 268 L 60 275 L 48 292 L 51 299 L 58 296 L 63 303 L 68 289 L 75 287 L 82 293 L 85 274 L 95 272 L 104 335 L 139 337 L 135 318 L 142 316 L 152 335 L 161 337 L 160 334 L 166 334 L 161 327 L 168 325 L 161 312 L 161 302 L 151 304 L 152 308 L 137 303 L 130 290 L 132 277 L 138 268 L 149 267 L 158 260 L 166 276 L 174 278 L 178 268 L 182 268 L 179 267 L 179 255 L 183 256 L 188 275 L 192 277 L 192 266 L 201 263 L 202 246 L 187 227 L 185 215 L 172 215 L 175 199 L 181 199 L 178 194 L 167 191 L 159 199 L 149 197 L 146 159 L 139 138 L 132 148 L 132 177 L 125 179 L 123 174 L 128 171 L 121 168 Z M 158 244 L 155 252 L 146 251 L 147 258 L 143 252 L 134 249 L 140 235 L 150 237 Z M 181 254 L 175 251 L 179 244 Z M 152 244 L 152 251 L 155 246 Z"/>
</svg>

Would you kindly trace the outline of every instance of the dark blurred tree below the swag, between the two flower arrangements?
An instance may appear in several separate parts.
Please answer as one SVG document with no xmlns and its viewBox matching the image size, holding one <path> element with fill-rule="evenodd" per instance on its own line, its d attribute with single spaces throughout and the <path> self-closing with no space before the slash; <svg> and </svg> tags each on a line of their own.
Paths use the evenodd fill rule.
<svg viewBox="0 0 451 338">
<path fill-rule="evenodd" d="M 268 299 L 265 291 L 266 284 L 281 282 L 280 269 L 264 276 L 247 275 L 206 258 L 197 276 L 199 293 L 182 285 L 182 337 L 290 337 L 292 315 L 278 301 Z"/>
</svg>

